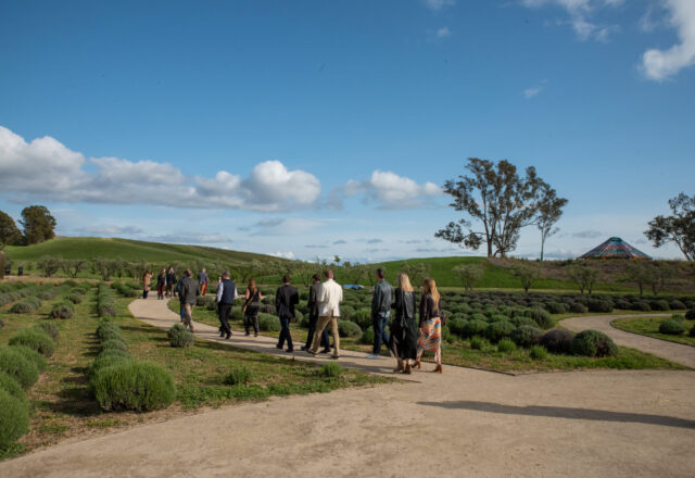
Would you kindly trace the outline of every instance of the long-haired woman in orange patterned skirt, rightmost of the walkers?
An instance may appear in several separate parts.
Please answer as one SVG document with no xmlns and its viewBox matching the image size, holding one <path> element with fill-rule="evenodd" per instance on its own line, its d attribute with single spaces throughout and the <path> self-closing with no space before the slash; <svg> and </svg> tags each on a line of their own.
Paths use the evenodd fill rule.
<svg viewBox="0 0 695 478">
<path fill-rule="evenodd" d="M 433 279 L 422 282 L 422 299 L 420 301 L 419 337 L 417 340 L 417 358 L 415 365 L 420 368 L 422 352 L 434 352 L 437 366 L 432 372 L 442 373 L 442 320 L 440 295 Z"/>
</svg>

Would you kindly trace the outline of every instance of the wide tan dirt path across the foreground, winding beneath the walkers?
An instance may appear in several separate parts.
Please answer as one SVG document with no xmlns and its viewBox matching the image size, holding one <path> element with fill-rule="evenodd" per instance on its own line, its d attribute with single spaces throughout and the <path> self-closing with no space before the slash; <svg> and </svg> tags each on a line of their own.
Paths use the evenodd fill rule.
<svg viewBox="0 0 695 478">
<path fill-rule="evenodd" d="M 160 327 L 177 320 L 164 303 L 151 302 L 136 301 L 131 310 Z M 253 345 L 274 352 L 273 342 Z M 391 366 L 357 354 L 344 361 L 376 372 Z M 444 375 L 413 379 L 66 443 L 0 463 L 0 477 L 691 477 L 695 470 L 695 372 L 510 377 L 445 367 Z"/>
</svg>

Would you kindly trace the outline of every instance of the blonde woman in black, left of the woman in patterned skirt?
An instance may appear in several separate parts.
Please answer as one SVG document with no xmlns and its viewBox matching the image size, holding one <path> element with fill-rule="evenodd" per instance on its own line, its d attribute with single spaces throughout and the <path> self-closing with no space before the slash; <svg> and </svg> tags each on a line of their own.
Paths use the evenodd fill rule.
<svg viewBox="0 0 695 478">
<path fill-rule="evenodd" d="M 393 372 L 410 374 L 413 362 L 417 358 L 417 325 L 415 324 L 415 293 L 407 274 L 399 274 L 394 292 L 395 311 L 391 322 L 391 350 L 399 361 Z"/>
</svg>

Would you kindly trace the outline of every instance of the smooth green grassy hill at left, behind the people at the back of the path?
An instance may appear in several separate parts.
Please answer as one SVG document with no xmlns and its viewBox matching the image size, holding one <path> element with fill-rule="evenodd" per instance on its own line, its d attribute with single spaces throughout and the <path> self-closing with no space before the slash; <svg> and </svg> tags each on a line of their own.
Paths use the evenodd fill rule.
<svg viewBox="0 0 695 478">
<path fill-rule="evenodd" d="M 93 237 L 62 237 L 34 246 L 9 246 L 5 253 L 14 262 L 36 262 L 43 255 L 63 259 L 123 259 L 150 263 L 191 262 L 195 260 L 236 263 L 252 260 L 278 261 L 277 257 L 251 252 L 228 251 L 202 246 L 165 244 L 130 239 L 106 239 Z"/>
</svg>

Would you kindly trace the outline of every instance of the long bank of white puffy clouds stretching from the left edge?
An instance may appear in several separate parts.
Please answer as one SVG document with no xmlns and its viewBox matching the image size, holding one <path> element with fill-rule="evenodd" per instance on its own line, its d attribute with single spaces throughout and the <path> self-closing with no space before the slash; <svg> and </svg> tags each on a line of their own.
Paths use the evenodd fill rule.
<svg viewBox="0 0 695 478">
<path fill-rule="evenodd" d="M 86 159 L 54 138 L 26 142 L 0 126 L 0 191 L 15 201 L 40 198 L 268 212 L 311 207 L 320 189 L 314 175 L 289 171 L 279 161 L 257 164 L 248 178 L 226 171 L 212 178 L 189 178 L 169 163 Z"/>
</svg>

